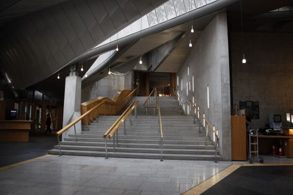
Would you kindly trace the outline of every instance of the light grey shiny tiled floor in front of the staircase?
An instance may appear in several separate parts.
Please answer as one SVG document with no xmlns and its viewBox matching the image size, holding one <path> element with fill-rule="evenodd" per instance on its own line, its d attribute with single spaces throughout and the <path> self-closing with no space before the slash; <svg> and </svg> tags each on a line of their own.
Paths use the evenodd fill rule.
<svg viewBox="0 0 293 195">
<path fill-rule="evenodd" d="M 179 195 L 230 164 L 50 156 L 0 171 L 0 194 Z"/>
</svg>

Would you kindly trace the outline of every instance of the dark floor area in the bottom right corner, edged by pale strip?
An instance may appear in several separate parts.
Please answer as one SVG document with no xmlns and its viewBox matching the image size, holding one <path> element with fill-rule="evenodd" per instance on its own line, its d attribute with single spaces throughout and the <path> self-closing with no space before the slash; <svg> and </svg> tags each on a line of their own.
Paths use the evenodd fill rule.
<svg viewBox="0 0 293 195">
<path fill-rule="evenodd" d="M 293 166 L 240 167 L 202 195 L 292 195 Z"/>
</svg>

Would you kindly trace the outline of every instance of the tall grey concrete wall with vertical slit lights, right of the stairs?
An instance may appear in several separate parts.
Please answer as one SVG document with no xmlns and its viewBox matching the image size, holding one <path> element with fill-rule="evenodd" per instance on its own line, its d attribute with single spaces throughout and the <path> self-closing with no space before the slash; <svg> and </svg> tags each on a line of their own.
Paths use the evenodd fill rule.
<svg viewBox="0 0 293 195">
<path fill-rule="evenodd" d="M 189 76 L 188 76 L 189 67 Z M 228 30 L 226 14 L 217 15 L 193 43 L 192 50 L 181 67 L 179 86 L 176 90 L 184 101 L 192 99 L 199 105 L 202 113 L 215 126 L 220 137 L 220 154 L 224 160 L 231 159 L 231 124 L 230 124 L 230 76 Z M 192 92 L 194 76 L 194 92 Z M 181 79 L 183 89 L 181 91 Z M 191 85 L 191 90 L 187 82 Z M 209 105 L 207 87 L 209 85 Z M 202 118 L 201 118 L 201 121 Z M 212 137 L 211 137 L 212 138 Z"/>
</svg>

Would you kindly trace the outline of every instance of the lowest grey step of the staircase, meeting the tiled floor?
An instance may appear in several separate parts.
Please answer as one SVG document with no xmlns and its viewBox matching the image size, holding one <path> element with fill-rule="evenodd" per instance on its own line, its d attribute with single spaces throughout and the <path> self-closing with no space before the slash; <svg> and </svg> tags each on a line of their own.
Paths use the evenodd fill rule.
<svg viewBox="0 0 293 195">
<path fill-rule="evenodd" d="M 59 155 L 59 150 L 53 149 L 48 151 L 51 155 Z M 105 157 L 105 152 L 96 151 L 75 151 L 75 150 L 62 150 L 63 155 L 75 155 L 75 156 L 101 156 Z M 123 157 L 123 158 L 151 158 L 161 159 L 160 154 L 149 153 L 118 153 L 109 152 L 108 157 Z M 214 160 L 214 155 L 186 155 L 186 154 L 163 154 L 163 159 L 178 159 L 178 160 Z M 222 160 L 221 156 L 217 157 L 217 160 Z"/>
</svg>

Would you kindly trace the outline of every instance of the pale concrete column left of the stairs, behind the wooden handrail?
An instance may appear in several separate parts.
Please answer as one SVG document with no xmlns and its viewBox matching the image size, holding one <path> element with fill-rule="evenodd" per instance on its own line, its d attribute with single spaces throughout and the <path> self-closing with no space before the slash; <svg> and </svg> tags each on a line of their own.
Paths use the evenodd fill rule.
<svg viewBox="0 0 293 195">
<path fill-rule="evenodd" d="M 71 74 L 72 75 L 72 74 Z M 65 93 L 64 93 L 64 109 L 63 109 L 63 127 L 81 116 L 81 90 L 82 90 L 82 78 L 73 75 L 65 78 Z M 75 124 L 76 133 L 82 133 L 82 123 Z M 74 135 L 74 127 L 63 133 L 64 137 L 68 137 L 69 134 Z"/>
</svg>

